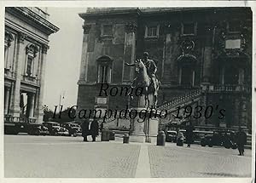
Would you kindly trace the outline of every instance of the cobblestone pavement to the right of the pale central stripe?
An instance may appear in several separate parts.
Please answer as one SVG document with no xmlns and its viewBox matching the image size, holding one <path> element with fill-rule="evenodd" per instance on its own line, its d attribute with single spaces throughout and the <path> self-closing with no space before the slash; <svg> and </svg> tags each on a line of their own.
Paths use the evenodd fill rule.
<svg viewBox="0 0 256 183">
<path fill-rule="evenodd" d="M 237 153 L 222 147 L 148 146 L 152 177 L 250 177 L 251 150 L 244 157 Z"/>
</svg>

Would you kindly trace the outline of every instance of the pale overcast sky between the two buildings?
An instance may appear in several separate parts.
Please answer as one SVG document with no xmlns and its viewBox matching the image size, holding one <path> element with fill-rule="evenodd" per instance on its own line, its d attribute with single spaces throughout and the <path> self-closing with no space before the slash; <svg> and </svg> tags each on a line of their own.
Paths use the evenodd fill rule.
<svg viewBox="0 0 256 183">
<path fill-rule="evenodd" d="M 48 8 L 49 21 L 60 31 L 49 36 L 49 50 L 45 71 L 44 105 L 54 109 L 60 94 L 64 108 L 77 104 L 79 67 L 83 41 L 83 9 Z"/>
</svg>

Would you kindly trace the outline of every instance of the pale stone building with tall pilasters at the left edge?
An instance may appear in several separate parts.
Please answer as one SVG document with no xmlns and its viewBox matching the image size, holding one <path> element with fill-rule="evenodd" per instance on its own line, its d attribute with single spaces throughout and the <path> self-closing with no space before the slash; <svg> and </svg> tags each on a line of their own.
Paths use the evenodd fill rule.
<svg viewBox="0 0 256 183">
<path fill-rule="evenodd" d="M 5 9 L 5 120 L 43 123 L 48 37 L 58 30 L 57 26 L 49 22 L 46 9 Z"/>
</svg>

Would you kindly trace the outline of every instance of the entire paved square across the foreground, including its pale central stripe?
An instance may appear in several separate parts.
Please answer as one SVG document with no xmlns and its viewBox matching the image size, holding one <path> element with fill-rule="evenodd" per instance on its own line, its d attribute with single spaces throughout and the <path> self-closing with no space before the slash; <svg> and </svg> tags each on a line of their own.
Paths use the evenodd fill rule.
<svg viewBox="0 0 256 183">
<path fill-rule="evenodd" d="M 82 137 L 4 135 L 5 177 L 247 177 L 251 150 L 83 142 Z M 145 156 L 148 155 L 148 156 Z M 145 158 L 146 157 L 146 158 Z M 145 162 L 145 163 L 143 163 Z M 150 169 L 148 169 L 150 167 Z"/>
</svg>

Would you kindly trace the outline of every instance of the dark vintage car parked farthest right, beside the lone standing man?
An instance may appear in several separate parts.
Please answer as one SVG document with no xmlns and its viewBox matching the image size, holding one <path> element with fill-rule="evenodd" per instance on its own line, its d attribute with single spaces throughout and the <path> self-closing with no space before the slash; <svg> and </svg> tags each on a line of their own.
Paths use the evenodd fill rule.
<svg viewBox="0 0 256 183">
<path fill-rule="evenodd" d="M 213 134 L 207 134 L 201 139 L 201 146 L 224 146 L 236 149 L 235 132 L 233 131 L 213 131 Z"/>
</svg>

